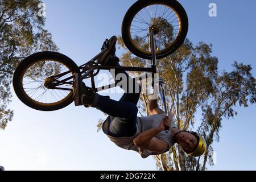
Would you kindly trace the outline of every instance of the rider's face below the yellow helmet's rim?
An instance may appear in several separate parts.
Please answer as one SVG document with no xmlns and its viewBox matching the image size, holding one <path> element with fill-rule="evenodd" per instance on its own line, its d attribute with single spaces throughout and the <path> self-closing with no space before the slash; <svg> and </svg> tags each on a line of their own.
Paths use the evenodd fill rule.
<svg viewBox="0 0 256 182">
<path fill-rule="evenodd" d="M 194 151 L 197 146 L 197 138 L 188 132 L 181 132 L 177 134 L 177 143 L 186 151 Z"/>
</svg>

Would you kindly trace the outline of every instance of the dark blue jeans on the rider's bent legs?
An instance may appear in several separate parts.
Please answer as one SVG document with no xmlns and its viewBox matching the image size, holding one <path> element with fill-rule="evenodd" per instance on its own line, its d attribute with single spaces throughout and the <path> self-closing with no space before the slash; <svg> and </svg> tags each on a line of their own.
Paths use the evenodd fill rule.
<svg viewBox="0 0 256 182">
<path fill-rule="evenodd" d="M 118 57 L 114 57 L 113 60 L 108 61 L 109 66 L 120 66 Z M 97 104 L 92 104 L 96 106 L 104 113 L 109 114 L 109 126 L 108 134 L 112 137 L 131 137 L 137 131 L 137 103 L 139 100 L 139 95 L 141 93 L 141 85 L 135 81 L 134 78 L 131 78 L 125 71 L 119 71 L 115 69 L 115 72 L 112 73 L 112 76 L 115 78 L 119 73 L 123 73 L 126 76 L 129 84 L 133 84 L 133 89 L 131 93 L 129 92 L 129 84 L 127 87 L 120 85 L 120 87 L 125 91 L 123 96 L 119 101 L 114 101 L 106 97 L 102 97 L 96 94 Z M 137 91 L 137 92 L 136 92 Z M 96 101 L 94 100 L 94 101 Z"/>
</svg>

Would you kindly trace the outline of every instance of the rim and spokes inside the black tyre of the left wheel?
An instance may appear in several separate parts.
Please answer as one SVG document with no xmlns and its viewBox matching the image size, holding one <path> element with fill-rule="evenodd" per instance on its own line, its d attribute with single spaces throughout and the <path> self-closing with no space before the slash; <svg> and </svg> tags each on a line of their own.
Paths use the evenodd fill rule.
<svg viewBox="0 0 256 182">
<path fill-rule="evenodd" d="M 71 77 L 71 79 L 66 81 L 70 82 L 70 84 L 61 85 L 59 88 L 69 90 L 48 89 L 44 86 L 48 77 L 64 72 L 69 73 L 57 80 L 64 80 L 65 78 Z M 68 100 L 73 95 L 72 81 L 72 70 L 60 61 L 51 59 L 35 61 L 28 65 L 20 76 L 20 86 L 23 90 L 24 97 L 27 97 L 34 104 L 41 106 L 55 106 Z"/>
</svg>

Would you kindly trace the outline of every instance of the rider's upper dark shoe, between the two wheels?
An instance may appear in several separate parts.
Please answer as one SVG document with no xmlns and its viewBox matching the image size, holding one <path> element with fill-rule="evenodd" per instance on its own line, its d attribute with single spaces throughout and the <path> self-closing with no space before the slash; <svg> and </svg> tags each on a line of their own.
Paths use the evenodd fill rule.
<svg viewBox="0 0 256 182">
<path fill-rule="evenodd" d="M 117 43 L 117 36 L 112 36 L 109 40 L 106 39 L 102 46 L 102 55 L 97 59 L 97 63 L 101 65 L 108 65 L 108 62 L 115 57 L 115 44 Z"/>
</svg>

